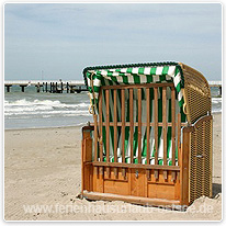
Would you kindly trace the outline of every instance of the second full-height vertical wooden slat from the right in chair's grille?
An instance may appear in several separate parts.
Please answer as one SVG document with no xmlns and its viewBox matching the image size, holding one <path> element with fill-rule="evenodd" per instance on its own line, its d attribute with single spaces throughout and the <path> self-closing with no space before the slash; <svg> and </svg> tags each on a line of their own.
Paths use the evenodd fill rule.
<svg viewBox="0 0 226 226">
<path fill-rule="evenodd" d="M 163 165 L 167 165 L 167 88 L 162 88 Z"/>
</svg>

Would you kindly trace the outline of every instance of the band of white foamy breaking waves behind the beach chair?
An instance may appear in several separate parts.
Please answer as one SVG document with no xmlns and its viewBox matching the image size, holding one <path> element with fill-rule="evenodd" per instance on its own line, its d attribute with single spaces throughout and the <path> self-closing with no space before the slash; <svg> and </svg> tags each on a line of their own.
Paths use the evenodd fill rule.
<svg viewBox="0 0 226 226">
<path fill-rule="evenodd" d="M 68 101 L 68 100 L 66 100 Z M 10 117 L 54 117 L 54 116 L 90 116 L 88 108 L 90 103 L 88 100 L 84 102 L 74 103 L 60 102 L 59 100 L 5 100 L 4 101 L 4 115 Z M 82 100 L 80 100 L 82 101 Z M 222 98 L 212 98 L 212 112 L 222 111 Z"/>
</svg>

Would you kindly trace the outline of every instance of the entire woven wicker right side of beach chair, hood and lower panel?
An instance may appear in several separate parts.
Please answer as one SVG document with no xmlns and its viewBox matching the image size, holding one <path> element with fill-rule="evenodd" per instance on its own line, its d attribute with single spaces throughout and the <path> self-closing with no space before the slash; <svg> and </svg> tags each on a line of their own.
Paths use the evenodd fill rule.
<svg viewBox="0 0 226 226">
<path fill-rule="evenodd" d="M 195 69 L 180 64 L 184 76 L 184 104 L 189 124 L 194 124 L 190 144 L 190 204 L 197 197 L 212 196 L 212 118 L 195 123 L 211 114 L 211 89 L 204 76 Z M 207 117 L 208 118 L 208 117 Z"/>
</svg>

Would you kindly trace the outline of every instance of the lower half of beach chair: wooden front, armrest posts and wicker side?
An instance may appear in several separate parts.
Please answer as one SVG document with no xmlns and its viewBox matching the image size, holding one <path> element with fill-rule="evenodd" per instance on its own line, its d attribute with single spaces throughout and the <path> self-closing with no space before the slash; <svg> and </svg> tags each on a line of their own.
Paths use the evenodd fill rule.
<svg viewBox="0 0 226 226">
<path fill-rule="evenodd" d="M 89 200 L 161 206 L 188 206 L 199 196 L 212 196 L 212 160 L 207 157 L 212 154 L 204 146 L 210 134 L 203 131 L 211 125 L 212 115 L 208 115 L 183 128 L 179 166 L 93 161 L 91 132 L 94 128 L 83 127 L 81 195 Z M 208 177 L 204 177 L 206 173 Z"/>
</svg>

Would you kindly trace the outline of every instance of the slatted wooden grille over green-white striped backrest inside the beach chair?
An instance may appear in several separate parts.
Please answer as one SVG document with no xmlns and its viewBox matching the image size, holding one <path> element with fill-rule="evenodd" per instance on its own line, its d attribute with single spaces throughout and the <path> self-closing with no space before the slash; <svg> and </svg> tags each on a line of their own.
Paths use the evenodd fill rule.
<svg viewBox="0 0 226 226">
<path fill-rule="evenodd" d="M 172 82 L 103 86 L 93 160 L 176 166 L 184 125 Z"/>
</svg>

